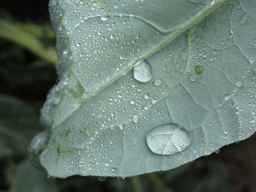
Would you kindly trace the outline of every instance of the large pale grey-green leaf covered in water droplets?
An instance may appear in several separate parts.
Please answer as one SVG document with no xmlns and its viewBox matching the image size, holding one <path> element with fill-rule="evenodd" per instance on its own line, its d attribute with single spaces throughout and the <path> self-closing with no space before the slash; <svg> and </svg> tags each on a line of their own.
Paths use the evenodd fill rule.
<svg viewBox="0 0 256 192">
<path fill-rule="evenodd" d="M 165 171 L 254 134 L 255 6 L 50 1 L 59 84 L 42 108 L 50 139 L 40 161 L 48 174 Z M 189 146 L 179 143 L 173 155 L 151 151 L 146 136 L 165 123 L 184 128 Z M 184 134 L 175 135 L 173 145 Z"/>
</svg>

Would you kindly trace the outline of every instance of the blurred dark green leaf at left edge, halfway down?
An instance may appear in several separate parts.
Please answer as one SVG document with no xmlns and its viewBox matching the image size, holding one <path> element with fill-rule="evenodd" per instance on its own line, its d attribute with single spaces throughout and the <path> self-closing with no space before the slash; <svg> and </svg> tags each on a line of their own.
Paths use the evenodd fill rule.
<svg viewBox="0 0 256 192">
<path fill-rule="evenodd" d="M 0 95 L 0 141 L 13 155 L 26 156 L 27 147 L 40 128 L 35 110 L 24 101 Z M 0 144 L 1 144 L 0 143 Z"/>
</svg>

